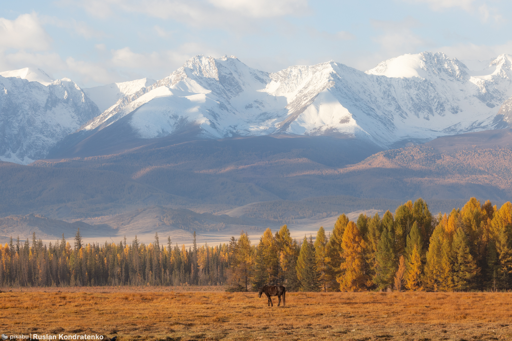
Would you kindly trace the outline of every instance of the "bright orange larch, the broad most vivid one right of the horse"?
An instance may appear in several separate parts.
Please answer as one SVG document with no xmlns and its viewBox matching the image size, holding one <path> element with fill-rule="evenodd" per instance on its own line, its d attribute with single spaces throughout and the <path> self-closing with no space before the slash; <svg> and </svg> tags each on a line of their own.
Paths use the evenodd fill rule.
<svg viewBox="0 0 512 341">
<path fill-rule="evenodd" d="M 342 247 L 344 249 L 342 262 L 343 276 L 338 276 L 341 291 L 361 291 L 366 288 L 367 276 L 365 275 L 364 248 L 362 239 L 356 224 L 350 221 L 343 234 Z"/>
</svg>

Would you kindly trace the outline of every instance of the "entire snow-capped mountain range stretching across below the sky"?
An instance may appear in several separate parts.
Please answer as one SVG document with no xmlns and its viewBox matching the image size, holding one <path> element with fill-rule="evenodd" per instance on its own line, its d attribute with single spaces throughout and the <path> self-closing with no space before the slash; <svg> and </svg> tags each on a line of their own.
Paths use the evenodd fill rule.
<svg viewBox="0 0 512 341">
<path fill-rule="evenodd" d="M 199 55 L 156 82 L 88 89 L 39 69 L 7 71 L 0 73 L 0 160 L 30 163 L 74 131 L 75 142 L 94 139 L 94 131 L 122 118 L 122 129 L 129 127 L 123 134 L 143 139 L 195 125 L 206 138 L 337 135 L 381 148 L 508 126 L 512 56 L 467 64 L 424 52 L 366 72 L 329 61 L 267 73 L 234 56 Z"/>
</svg>

